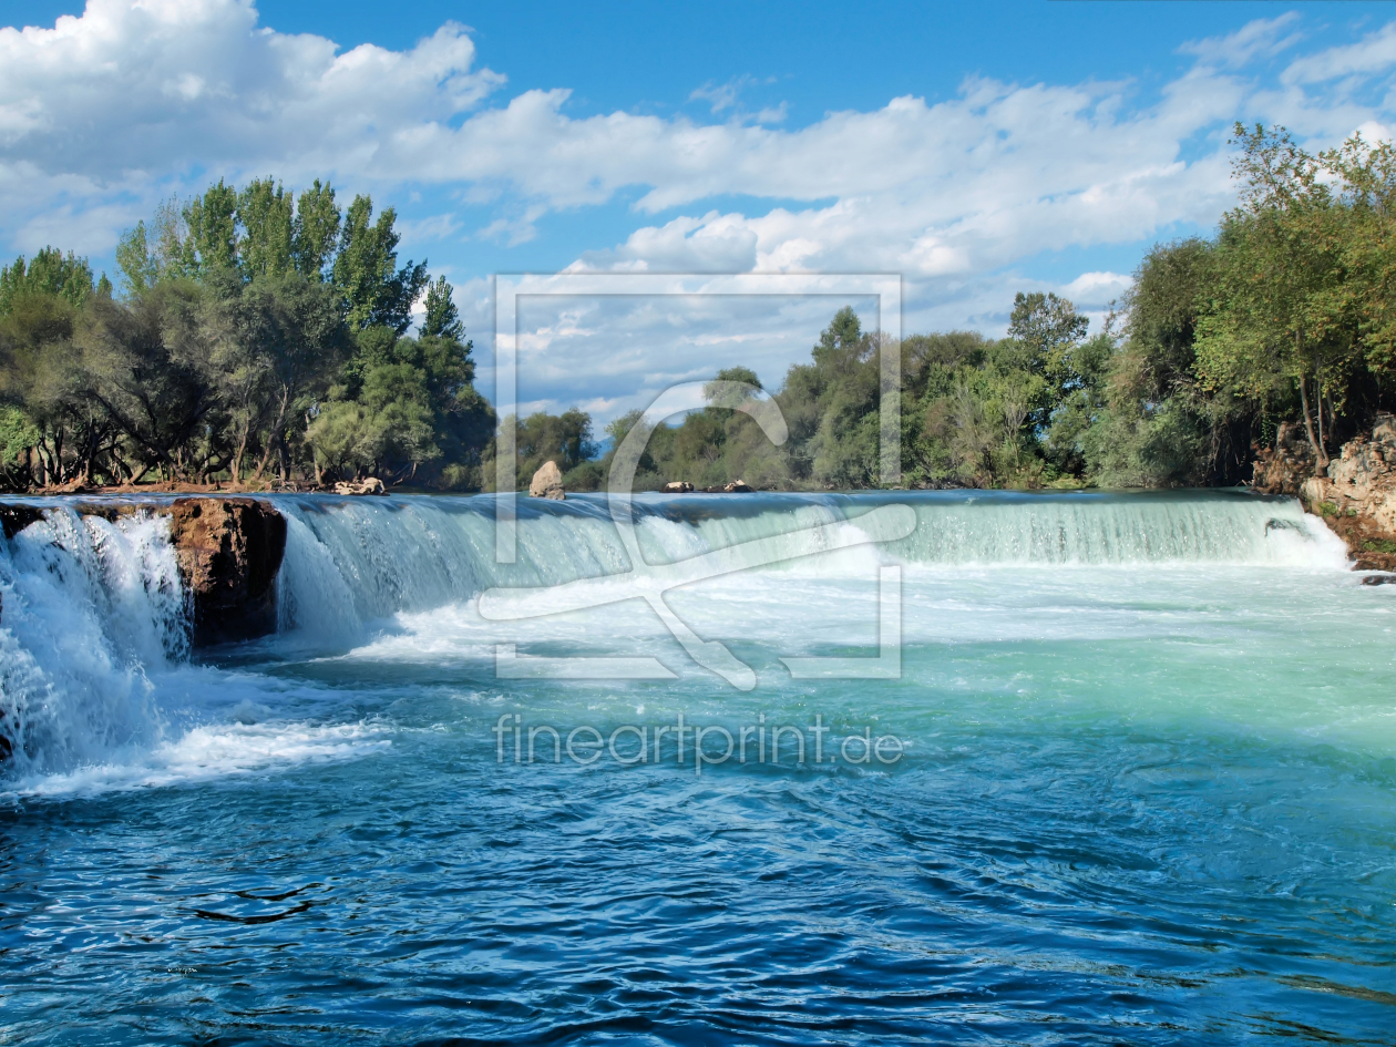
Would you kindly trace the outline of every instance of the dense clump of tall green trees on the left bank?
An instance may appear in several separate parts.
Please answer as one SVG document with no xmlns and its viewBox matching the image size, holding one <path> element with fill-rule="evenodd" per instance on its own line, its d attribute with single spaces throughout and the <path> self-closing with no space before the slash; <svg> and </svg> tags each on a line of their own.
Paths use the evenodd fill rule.
<svg viewBox="0 0 1396 1047">
<path fill-rule="evenodd" d="M 318 180 L 219 181 L 123 235 L 119 293 L 71 253 L 21 255 L 0 269 L 0 483 L 476 489 L 494 413 L 451 285 L 398 265 L 395 225 Z"/>
</svg>

